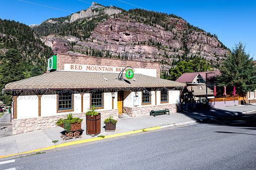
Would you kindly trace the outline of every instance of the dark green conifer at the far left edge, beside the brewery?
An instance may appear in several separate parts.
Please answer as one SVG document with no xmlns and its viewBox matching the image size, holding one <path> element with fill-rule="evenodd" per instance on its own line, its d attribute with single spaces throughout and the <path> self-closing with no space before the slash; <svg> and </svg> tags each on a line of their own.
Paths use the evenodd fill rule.
<svg viewBox="0 0 256 170">
<path fill-rule="evenodd" d="M 4 56 L 3 64 L 0 67 L 0 90 L 5 85 L 25 78 L 24 64 L 19 52 L 15 49 L 8 50 Z M 0 100 L 6 105 L 12 104 L 12 95 L 0 95 Z"/>
</svg>

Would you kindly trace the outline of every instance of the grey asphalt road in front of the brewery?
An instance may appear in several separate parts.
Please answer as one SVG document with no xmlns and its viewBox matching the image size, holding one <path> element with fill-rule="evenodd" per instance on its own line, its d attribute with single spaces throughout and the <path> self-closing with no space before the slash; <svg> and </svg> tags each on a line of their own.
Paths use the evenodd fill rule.
<svg viewBox="0 0 256 170">
<path fill-rule="evenodd" d="M 0 169 L 255 169 L 256 114 L 0 161 Z M 8 160 L 8 159 L 6 159 Z"/>
</svg>

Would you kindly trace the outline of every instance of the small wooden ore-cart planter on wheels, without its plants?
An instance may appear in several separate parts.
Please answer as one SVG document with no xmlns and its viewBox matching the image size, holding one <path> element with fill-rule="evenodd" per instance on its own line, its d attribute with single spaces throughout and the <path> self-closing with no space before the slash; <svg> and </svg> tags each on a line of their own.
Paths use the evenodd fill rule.
<svg viewBox="0 0 256 170">
<path fill-rule="evenodd" d="M 64 128 L 64 123 L 61 123 L 59 126 Z M 76 138 L 76 137 L 81 138 L 80 132 L 81 132 L 81 122 L 71 123 L 70 131 L 68 133 L 65 132 L 66 135 L 61 135 L 60 137 L 63 140 L 72 139 L 72 138 Z"/>
</svg>

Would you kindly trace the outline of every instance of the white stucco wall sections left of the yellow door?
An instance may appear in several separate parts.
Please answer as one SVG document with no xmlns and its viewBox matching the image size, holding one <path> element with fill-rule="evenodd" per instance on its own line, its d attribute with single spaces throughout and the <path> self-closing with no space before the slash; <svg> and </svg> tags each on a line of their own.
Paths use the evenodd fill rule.
<svg viewBox="0 0 256 170">
<path fill-rule="evenodd" d="M 74 94 L 74 111 L 57 113 L 56 94 L 46 94 L 41 97 L 41 117 L 65 115 L 67 113 L 81 113 L 81 95 Z M 83 95 L 83 113 L 90 109 L 90 94 Z M 117 93 L 114 99 L 114 109 L 117 109 Z M 110 92 L 104 93 L 104 108 L 97 111 L 112 110 L 112 95 Z M 37 118 L 38 97 L 36 95 L 19 96 L 17 98 L 17 119 Z"/>
</svg>

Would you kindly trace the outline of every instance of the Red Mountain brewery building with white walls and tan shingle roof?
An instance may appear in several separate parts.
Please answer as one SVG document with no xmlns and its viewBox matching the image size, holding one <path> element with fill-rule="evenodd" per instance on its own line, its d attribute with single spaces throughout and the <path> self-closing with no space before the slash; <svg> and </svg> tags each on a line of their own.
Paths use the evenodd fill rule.
<svg viewBox="0 0 256 170">
<path fill-rule="evenodd" d="M 5 86 L 4 91 L 13 94 L 13 134 L 56 127 L 67 113 L 86 123 L 85 113 L 92 107 L 101 120 L 119 114 L 146 116 L 163 108 L 181 110 L 186 84 L 160 79 L 160 63 L 56 54 L 47 68 L 46 74 Z M 131 73 L 133 77 L 126 77 Z"/>
</svg>

